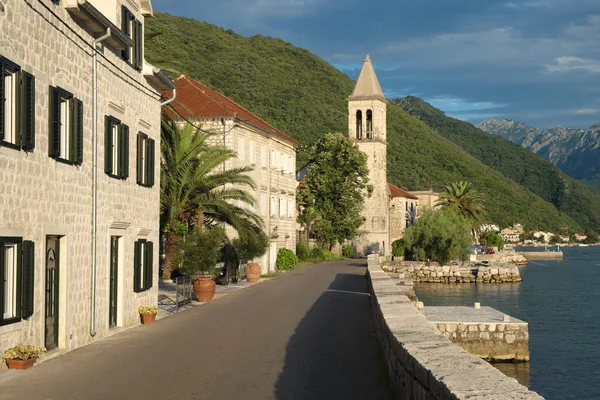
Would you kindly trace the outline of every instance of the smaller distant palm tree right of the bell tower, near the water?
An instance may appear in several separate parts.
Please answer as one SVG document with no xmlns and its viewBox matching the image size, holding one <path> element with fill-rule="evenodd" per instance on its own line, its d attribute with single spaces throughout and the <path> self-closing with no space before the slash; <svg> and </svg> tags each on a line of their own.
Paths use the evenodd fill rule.
<svg viewBox="0 0 600 400">
<path fill-rule="evenodd" d="M 473 189 L 470 182 L 459 181 L 446 186 L 436 206 L 455 209 L 469 221 L 471 232 L 476 237 L 477 228 L 484 215 L 483 195 Z"/>
</svg>

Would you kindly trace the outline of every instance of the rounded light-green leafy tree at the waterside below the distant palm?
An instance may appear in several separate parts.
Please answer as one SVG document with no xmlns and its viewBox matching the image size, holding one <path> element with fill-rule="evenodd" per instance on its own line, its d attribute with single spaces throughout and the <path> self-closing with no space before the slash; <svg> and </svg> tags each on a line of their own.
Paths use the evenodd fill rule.
<svg viewBox="0 0 600 400">
<path fill-rule="evenodd" d="M 417 260 L 446 264 L 450 260 L 468 260 L 473 242 L 470 227 L 469 221 L 453 208 L 429 209 L 406 230 L 404 239 L 409 253 Z"/>
</svg>

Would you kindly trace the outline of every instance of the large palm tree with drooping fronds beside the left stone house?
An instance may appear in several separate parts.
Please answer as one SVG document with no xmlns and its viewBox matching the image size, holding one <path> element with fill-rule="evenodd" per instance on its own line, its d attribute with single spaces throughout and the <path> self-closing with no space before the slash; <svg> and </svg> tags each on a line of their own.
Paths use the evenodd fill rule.
<svg viewBox="0 0 600 400">
<path fill-rule="evenodd" d="M 255 188 L 247 174 L 252 168 L 225 170 L 224 163 L 235 157 L 235 152 L 211 145 L 211 136 L 190 124 L 180 126 L 163 119 L 160 223 L 166 239 L 165 277 L 174 270 L 172 251 L 178 236 L 225 224 L 244 237 L 263 226 L 262 219 L 248 207 L 254 205 L 254 198 L 242 189 Z"/>
</svg>

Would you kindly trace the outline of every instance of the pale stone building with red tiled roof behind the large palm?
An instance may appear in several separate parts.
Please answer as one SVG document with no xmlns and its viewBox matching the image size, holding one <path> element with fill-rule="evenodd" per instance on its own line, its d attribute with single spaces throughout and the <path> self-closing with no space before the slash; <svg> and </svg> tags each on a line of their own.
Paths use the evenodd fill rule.
<svg viewBox="0 0 600 400">
<path fill-rule="evenodd" d="M 299 143 L 230 98 L 188 76 L 175 80 L 175 119 L 192 122 L 215 133 L 215 144 L 237 153 L 225 168 L 251 166 L 256 184 L 253 211 L 264 221 L 270 238 L 267 253 L 258 260 L 263 273 L 275 271 L 277 251 L 296 251 L 296 148 Z M 185 120 L 183 119 L 185 118 Z M 242 205 L 240 203 L 240 205 Z M 231 233 L 231 232 L 229 232 Z"/>
</svg>

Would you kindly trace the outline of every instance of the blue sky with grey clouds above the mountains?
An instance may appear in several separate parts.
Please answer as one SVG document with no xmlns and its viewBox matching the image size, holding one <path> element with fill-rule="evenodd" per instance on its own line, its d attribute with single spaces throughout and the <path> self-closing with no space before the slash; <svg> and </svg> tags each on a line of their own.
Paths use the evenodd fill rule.
<svg viewBox="0 0 600 400">
<path fill-rule="evenodd" d="M 387 98 L 418 96 L 477 124 L 600 122 L 599 0 L 154 0 L 154 9 L 281 38 Z"/>
</svg>

